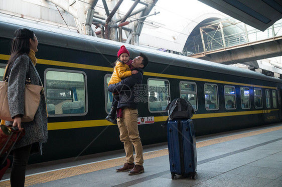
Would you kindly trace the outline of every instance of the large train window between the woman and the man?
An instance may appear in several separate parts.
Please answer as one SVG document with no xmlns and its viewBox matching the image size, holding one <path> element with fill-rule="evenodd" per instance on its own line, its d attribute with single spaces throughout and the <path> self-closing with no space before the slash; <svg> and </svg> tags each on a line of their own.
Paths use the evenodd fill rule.
<svg viewBox="0 0 282 187">
<path fill-rule="evenodd" d="M 48 68 L 44 75 L 49 116 L 86 114 L 86 74 L 83 71 Z"/>
</svg>

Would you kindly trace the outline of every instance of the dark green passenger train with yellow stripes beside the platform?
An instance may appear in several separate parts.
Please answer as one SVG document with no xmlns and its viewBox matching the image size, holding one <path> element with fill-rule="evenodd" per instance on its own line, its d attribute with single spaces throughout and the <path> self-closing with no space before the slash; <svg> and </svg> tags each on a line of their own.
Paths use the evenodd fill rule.
<svg viewBox="0 0 282 187">
<path fill-rule="evenodd" d="M 117 125 L 105 117 L 112 95 L 107 82 L 112 62 L 124 44 L 0 17 L 0 74 L 9 59 L 11 39 L 30 27 L 38 40 L 36 68 L 46 89 L 48 142 L 30 163 L 122 149 Z M 196 136 L 281 121 L 281 80 L 261 73 L 125 44 L 133 58 L 149 57 L 136 92 L 143 144 L 167 141 L 161 124 L 168 98 L 182 97 L 197 114 Z M 154 97 L 154 99 L 151 99 Z"/>
</svg>

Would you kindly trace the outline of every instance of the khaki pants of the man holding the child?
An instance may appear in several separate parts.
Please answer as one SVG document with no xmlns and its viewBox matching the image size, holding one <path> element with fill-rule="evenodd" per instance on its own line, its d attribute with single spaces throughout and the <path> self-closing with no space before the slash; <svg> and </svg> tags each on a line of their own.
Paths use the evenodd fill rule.
<svg viewBox="0 0 282 187">
<path fill-rule="evenodd" d="M 135 164 L 143 165 L 143 148 L 137 125 L 138 110 L 133 108 L 122 109 L 122 117 L 117 118 L 119 138 L 123 142 L 127 163 L 133 163 L 133 146 L 135 149 Z M 132 146 L 133 144 L 133 146 Z"/>
</svg>

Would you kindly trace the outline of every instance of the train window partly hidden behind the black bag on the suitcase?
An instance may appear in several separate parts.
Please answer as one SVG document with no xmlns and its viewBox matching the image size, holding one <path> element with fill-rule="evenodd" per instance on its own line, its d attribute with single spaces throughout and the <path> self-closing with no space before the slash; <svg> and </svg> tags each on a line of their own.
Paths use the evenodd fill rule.
<svg viewBox="0 0 282 187">
<path fill-rule="evenodd" d="M 197 85 L 195 82 L 180 81 L 180 97 L 188 100 L 195 110 L 198 109 Z"/>
</svg>

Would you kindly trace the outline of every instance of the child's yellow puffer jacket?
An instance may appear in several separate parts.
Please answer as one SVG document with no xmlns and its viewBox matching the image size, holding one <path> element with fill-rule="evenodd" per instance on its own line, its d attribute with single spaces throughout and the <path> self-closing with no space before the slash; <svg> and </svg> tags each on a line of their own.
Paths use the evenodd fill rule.
<svg viewBox="0 0 282 187">
<path fill-rule="evenodd" d="M 121 78 L 125 78 L 130 75 L 131 75 L 131 70 L 129 68 L 129 65 L 123 64 L 122 62 L 117 61 L 115 63 L 113 73 L 111 75 L 108 85 L 120 82 Z"/>
</svg>

